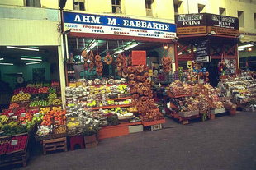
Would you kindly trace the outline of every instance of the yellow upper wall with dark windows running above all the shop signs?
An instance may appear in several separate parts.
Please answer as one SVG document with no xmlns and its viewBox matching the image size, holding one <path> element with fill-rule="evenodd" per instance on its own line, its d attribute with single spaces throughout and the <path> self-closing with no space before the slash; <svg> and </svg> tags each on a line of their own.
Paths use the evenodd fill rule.
<svg viewBox="0 0 256 170">
<path fill-rule="evenodd" d="M 0 4 L 59 8 L 59 0 L 0 0 Z M 256 33 L 256 0 L 67 0 L 64 10 L 132 16 L 174 23 L 174 14 L 207 12 L 239 17 L 241 32 Z"/>
</svg>

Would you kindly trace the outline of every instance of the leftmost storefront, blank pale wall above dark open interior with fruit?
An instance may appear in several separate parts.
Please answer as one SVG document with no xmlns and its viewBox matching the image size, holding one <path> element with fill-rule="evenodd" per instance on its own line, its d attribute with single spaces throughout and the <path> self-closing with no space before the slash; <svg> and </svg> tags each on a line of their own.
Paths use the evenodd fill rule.
<svg viewBox="0 0 256 170">
<path fill-rule="evenodd" d="M 12 6 L 0 6 L 0 10 L 3 25 L 0 30 L 1 107 L 22 102 L 34 107 L 48 106 L 49 96 L 45 94 L 44 99 L 40 98 L 36 91 L 51 85 L 58 89 L 55 95 L 61 105 L 59 87 L 64 65 L 57 30 L 59 11 Z M 19 93 L 19 97 L 13 97 Z M 35 99 L 26 99 L 26 94 Z"/>
</svg>

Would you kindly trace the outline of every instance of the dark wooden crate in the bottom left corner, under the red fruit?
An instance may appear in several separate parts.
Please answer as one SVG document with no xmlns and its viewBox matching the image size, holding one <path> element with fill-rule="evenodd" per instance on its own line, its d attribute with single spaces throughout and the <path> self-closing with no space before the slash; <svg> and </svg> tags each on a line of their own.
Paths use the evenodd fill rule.
<svg viewBox="0 0 256 170">
<path fill-rule="evenodd" d="M 0 158 L 0 167 L 5 167 L 13 164 L 21 164 L 26 167 L 27 159 L 29 157 L 29 152 L 23 153 L 13 153 L 2 155 Z"/>
</svg>

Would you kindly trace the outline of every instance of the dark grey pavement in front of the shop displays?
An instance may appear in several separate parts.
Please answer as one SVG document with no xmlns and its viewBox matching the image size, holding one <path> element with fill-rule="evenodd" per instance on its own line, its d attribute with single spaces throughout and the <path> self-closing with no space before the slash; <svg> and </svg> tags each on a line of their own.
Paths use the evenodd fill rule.
<svg viewBox="0 0 256 170">
<path fill-rule="evenodd" d="M 188 125 L 167 118 L 162 130 L 102 140 L 93 149 L 42 155 L 38 146 L 26 168 L 12 169 L 255 170 L 256 113 Z"/>
</svg>

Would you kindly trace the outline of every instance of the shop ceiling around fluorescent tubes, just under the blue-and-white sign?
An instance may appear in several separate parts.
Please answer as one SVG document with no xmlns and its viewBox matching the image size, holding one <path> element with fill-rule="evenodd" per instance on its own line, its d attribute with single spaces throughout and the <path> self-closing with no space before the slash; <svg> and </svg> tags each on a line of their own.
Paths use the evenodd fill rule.
<svg viewBox="0 0 256 170">
<path fill-rule="evenodd" d="M 79 54 L 84 48 L 87 48 L 91 44 L 93 39 L 83 39 L 71 37 L 68 39 L 69 52 Z M 93 48 L 93 51 L 101 55 L 105 55 L 108 50 L 110 53 L 114 53 L 118 48 L 124 48 L 130 44 L 131 40 L 120 40 L 120 39 L 97 39 L 98 44 Z M 132 50 L 153 50 L 154 48 L 160 48 L 165 44 L 162 43 L 150 43 L 150 42 L 138 42 L 138 46 L 132 48 Z"/>
</svg>

